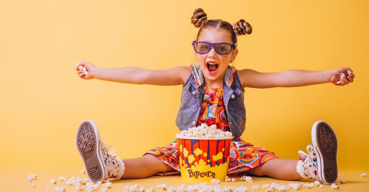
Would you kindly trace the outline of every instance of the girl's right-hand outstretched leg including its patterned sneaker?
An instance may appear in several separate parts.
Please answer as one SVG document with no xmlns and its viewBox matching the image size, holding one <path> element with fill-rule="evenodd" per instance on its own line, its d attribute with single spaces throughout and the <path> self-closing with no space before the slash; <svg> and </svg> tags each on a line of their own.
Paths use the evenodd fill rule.
<svg viewBox="0 0 369 192">
<path fill-rule="evenodd" d="M 315 179 L 329 185 L 337 179 L 337 136 L 327 122 L 317 121 L 311 129 L 312 144 L 308 152 L 299 151 L 299 160 L 274 158 L 248 170 L 254 175 L 276 179 Z"/>
</svg>

